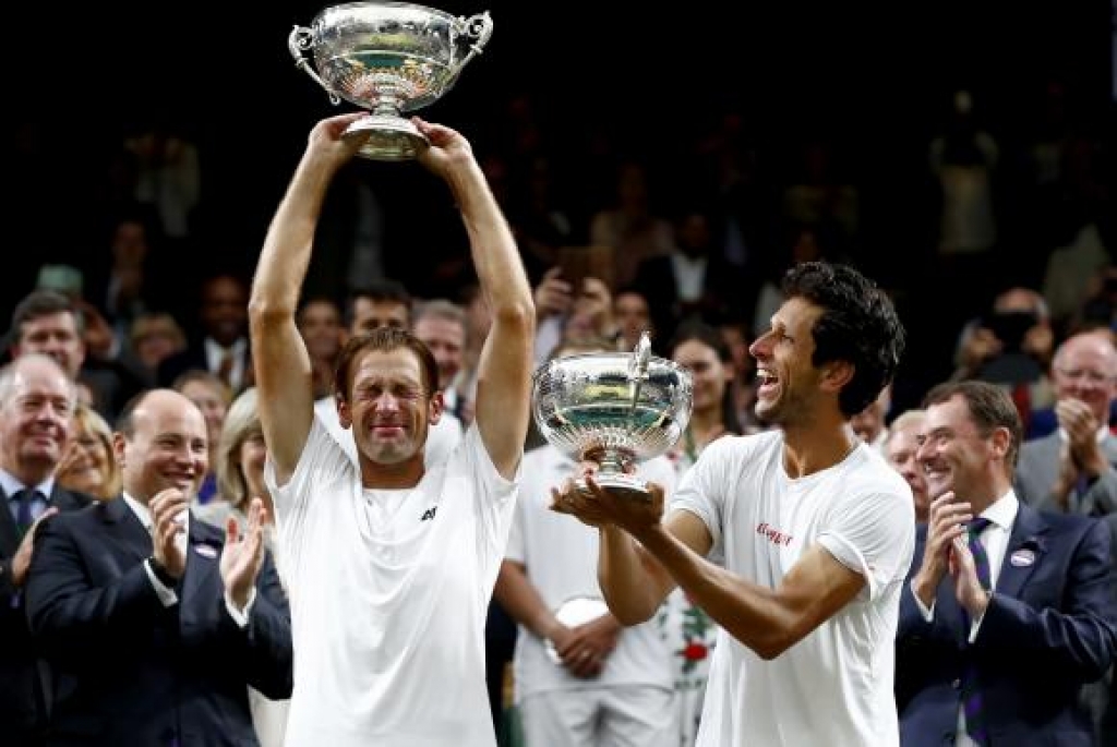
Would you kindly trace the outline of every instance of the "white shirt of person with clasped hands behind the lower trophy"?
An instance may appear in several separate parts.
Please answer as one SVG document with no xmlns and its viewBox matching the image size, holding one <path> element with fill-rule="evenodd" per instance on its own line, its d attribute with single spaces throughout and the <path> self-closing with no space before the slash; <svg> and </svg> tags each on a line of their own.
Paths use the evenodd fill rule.
<svg viewBox="0 0 1117 747">
<path fill-rule="evenodd" d="M 602 597 L 598 584 L 598 530 L 550 508 L 551 488 L 562 485 L 576 470 L 577 463 L 550 443 L 524 456 L 524 479 L 505 553 L 507 559 L 524 564 L 528 581 L 551 610 L 574 597 Z M 637 477 L 659 483 L 668 496 L 675 488 L 675 468 L 666 457 L 641 463 Z M 576 678 L 554 663 L 543 639 L 523 625 L 513 658 L 517 703 L 552 690 L 621 684 L 670 690 L 674 671 L 671 653 L 655 620 L 623 629 L 601 674 L 590 680 Z"/>
</svg>

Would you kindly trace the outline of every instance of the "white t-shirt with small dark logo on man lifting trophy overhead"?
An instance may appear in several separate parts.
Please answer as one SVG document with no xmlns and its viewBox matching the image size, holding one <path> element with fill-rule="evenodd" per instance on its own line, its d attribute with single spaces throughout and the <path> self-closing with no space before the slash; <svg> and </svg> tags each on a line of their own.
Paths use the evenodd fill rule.
<svg viewBox="0 0 1117 747">
<path fill-rule="evenodd" d="M 286 747 L 494 747 L 485 617 L 515 507 L 476 427 L 410 490 L 361 486 L 314 419 L 276 506 L 295 689 Z"/>
</svg>

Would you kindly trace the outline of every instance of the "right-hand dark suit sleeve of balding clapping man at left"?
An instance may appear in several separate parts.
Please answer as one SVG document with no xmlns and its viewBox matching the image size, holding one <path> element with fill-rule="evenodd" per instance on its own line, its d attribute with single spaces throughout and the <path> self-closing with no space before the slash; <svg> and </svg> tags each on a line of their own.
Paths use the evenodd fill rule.
<svg viewBox="0 0 1117 747">
<path fill-rule="evenodd" d="M 290 640 L 290 610 L 271 556 L 265 558 L 256 580 L 256 602 L 248 624 L 240 628 L 225 610 L 225 597 L 216 600 L 220 634 L 240 652 L 245 679 L 273 700 L 290 697 L 294 651 Z"/>
</svg>

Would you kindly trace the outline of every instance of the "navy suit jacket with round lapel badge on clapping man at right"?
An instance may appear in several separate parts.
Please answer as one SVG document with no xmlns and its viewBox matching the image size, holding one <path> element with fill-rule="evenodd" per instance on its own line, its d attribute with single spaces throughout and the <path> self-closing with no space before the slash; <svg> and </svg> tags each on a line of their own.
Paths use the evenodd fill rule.
<svg viewBox="0 0 1117 747">
<path fill-rule="evenodd" d="M 972 644 L 949 576 L 938 587 L 930 623 L 915 602 L 910 578 L 926 539 L 926 527 L 920 526 L 900 600 L 900 744 L 954 744 L 960 678 L 965 663 L 973 661 L 992 744 L 1092 745 L 1080 690 L 1101 678 L 1117 654 L 1109 529 L 1095 519 L 1040 514 L 1021 504 L 993 601 Z M 1013 563 L 1016 552 L 1018 558 L 1033 562 Z"/>
</svg>

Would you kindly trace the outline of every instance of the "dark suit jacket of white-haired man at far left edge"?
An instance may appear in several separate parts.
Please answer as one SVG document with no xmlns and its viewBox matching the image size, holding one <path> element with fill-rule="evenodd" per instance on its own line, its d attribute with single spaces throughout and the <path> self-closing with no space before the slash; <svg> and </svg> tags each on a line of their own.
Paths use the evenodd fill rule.
<svg viewBox="0 0 1117 747">
<path fill-rule="evenodd" d="M 11 558 L 19 548 L 19 533 L 0 490 L 0 743 L 11 747 L 41 744 L 49 705 L 49 672 L 31 645 L 23 594 L 11 578 Z M 83 508 L 89 496 L 55 483 L 49 505 L 60 511 Z"/>
</svg>

